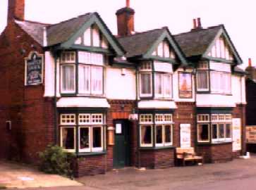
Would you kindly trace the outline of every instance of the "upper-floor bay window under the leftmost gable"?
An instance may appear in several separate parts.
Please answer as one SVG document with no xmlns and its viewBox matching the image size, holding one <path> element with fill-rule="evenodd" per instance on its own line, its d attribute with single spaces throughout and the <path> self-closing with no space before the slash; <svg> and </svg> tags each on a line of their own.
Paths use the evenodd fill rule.
<svg viewBox="0 0 256 190">
<path fill-rule="evenodd" d="M 104 94 L 104 58 L 100 53 L 78 52 L 78 63 L 75 63 L 75 54 L 64 52 L 61 57 L 61 93 L 102 95 Z M 72 55 L 72 56 L 71 56 Z M 74 57 L 73 57 L 74 56 Z M 73 60 L 73 63 L 72 61 Z M 66 62 L 67 61 L 67 62 Z M 76 72 L 78 67 L 78 72 Z M 75 79 L 78 77 L 78 89 Z"/>
</svg>

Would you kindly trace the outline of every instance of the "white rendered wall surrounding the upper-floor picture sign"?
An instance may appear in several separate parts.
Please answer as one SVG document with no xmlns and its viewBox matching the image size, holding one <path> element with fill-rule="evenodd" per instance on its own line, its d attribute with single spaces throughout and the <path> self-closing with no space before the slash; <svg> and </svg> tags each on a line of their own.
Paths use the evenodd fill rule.
<svg viewBox="0 0 256 190">
<path fill-rule="evenodd" d="M 192 75 L 192 99 L 180 99 L 179 98 L 179 83 L 178 83 L 178 71 L 183 70 L 177 70 L 173 73 L 173 99 L 174 101 L 185 101 L 185 102 L 194 102 L 195 101 L 195 76 Z M 188 72 L 192 72 L 192 70 L 188 70 Z"/>
</svg>

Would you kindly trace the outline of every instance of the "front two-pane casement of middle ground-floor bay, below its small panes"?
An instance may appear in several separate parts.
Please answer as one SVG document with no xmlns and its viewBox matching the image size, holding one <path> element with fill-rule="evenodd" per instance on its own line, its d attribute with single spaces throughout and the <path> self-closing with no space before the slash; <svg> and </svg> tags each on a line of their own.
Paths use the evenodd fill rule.
<svg viewBox="0 0 256 190">
<path fill-rule="evenodd" d="M 173 126 L 155 125 L 156 146 L 171 146 L 173 144 Z"/>
</svg>

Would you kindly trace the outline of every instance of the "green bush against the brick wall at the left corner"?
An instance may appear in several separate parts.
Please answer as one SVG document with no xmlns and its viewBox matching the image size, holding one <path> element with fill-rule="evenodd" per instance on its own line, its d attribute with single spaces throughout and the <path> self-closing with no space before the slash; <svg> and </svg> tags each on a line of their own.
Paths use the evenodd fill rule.
<svg viewBox="0 0 256 190">
<path fill-rule="evenodd" d="M 63 151 L 60 146 L 49 145 L 45 151 L 39 153 L 39 170 L 73 178 L 71 163 L 74 157 L 73 153 Z"/>
</svg>

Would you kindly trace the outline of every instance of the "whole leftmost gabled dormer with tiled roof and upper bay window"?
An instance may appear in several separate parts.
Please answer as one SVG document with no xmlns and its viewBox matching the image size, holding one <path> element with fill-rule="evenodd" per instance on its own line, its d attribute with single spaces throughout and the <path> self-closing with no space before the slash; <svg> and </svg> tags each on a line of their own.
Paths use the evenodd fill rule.
<svg viewBox="0 0 256 190">
<path fill-rule="evenodd" d="M 57 52 L 61 95 L 105 96 L 106 63 L 124 51 L 98 13 L 51 25 L 46 33 L 46 49 Z"/>
</svg>

